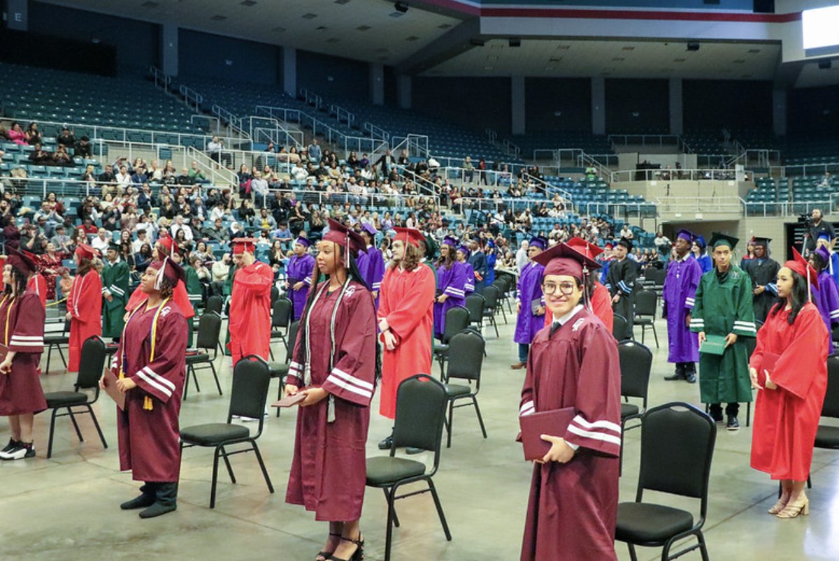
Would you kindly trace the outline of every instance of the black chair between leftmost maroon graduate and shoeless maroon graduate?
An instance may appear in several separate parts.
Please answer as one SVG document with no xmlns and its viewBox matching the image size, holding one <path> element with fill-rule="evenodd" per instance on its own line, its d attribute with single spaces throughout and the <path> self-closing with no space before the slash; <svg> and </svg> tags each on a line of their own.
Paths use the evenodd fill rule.
<svg viewBox="0 0 839 561">
<path fill-rule="evenodd" d="M 96 403 L 99 399 L 99 379 L 102 377 L 102 368 L 105 366 L 105 341 L 99 337 L 91 337 L 81 345 L 81 356 L 79 356 L 79 373 L 76 375 L 76 384 L 72 392 L 49 392 L 44 393 L 44 398 L 47 401 L 47 408 L 52 409 L 50 416 L 50 439 L 47 444 L 47 458 L 52 457 L 52 442 L 55 434 L 55 418 L 56 417 L 70 417 L 73 423 L 73 428 L 76 429 L 76 436 L 79 437 L 79 442 L 84 442 L 85 439 L 81 436 L 79 423 L 76 423 L 76 415 L 89 413 L 93 419 L 93 426 L 96 427 L 96 432 L 99 433 L 99 439 L 102 440 L 102 447 L 107 448 L 105 435 L 102 434 L 102 429 L 99 427 L 99 421 L 96 419 L 96 413 L 93 413 L 91 405 Z M 93 398 L 81 390 L 93 390 Z M 73 408 L 84 408 L 82 411 L 73 411 Z M 66 413 L 59 413 L 61 409 L 66 409 Z"/>
</svg>

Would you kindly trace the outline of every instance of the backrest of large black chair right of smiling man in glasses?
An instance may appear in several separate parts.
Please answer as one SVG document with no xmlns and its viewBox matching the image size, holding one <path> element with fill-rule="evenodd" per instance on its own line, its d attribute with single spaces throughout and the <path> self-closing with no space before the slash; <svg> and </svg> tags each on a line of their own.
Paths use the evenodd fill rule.
<svg viewBox="0 0 839 561">
<path fill-rule="evenodd" d="M 704 517 L 716 439 L 717 423 L 689 403 L 648 409 L 641 420 L 636 501 L 644 489 L 699 498 Z"/>
</svg>

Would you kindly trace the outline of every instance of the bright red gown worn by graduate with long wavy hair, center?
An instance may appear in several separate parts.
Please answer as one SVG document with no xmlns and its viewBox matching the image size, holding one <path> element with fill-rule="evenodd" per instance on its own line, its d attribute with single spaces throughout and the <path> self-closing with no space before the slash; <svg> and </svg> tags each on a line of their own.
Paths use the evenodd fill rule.
<svg viewBox="0 0 839 561">
<path fill-rule="evenodd" d="M 434 272 L 418 264 L 413 271 L 388 267 L 379 293 L 378 317 L 387 319 L 399 343 L 388 351 L 382 342 L 382 393 L 379 413 L 396 416 L 396 388 L 414 374 L 431 373 L 434 329 Z"/>
</svg>

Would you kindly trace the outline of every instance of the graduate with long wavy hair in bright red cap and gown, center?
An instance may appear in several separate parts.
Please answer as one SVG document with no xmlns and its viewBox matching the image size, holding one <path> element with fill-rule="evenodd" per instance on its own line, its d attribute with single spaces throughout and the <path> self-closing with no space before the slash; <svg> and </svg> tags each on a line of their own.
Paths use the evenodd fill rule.
<svg viewBox="0 0 839 561">
<path fill-rule="evenodd" d="M 383 342 L 382 390 L 379 413 L 396 417 L 396 389 L 404 379 L 431 371 L 431 330 L 434 329 L 434 272 L 420 259 L 425 236 L 413 228 L 396 228 L 391 244 L 393 262 L 384 273 L 378 306 Z M 390 437 L 379 443 L 390 449 Z"/>
</svg>

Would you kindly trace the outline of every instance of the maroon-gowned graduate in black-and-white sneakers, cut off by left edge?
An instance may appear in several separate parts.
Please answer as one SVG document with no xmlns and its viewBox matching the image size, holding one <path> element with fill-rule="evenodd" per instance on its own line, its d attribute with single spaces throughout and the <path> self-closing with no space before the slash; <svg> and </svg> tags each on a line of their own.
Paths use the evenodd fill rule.
<svg viewBox="0 0 839 561">
<path fill-rule="evenodd" d="M 44 351 L 44 306 L 37 294 L 26 289 L 34 273 L 29 257 L 7 247 L 3 265 L 3 296 L 0 297 L 0 340 L 7 347 L 0 361 L 0 415 L 8 416 L 12 434 L 0 451 L 0 459 L 33 458 L 34 413 L 47 408 L 38 379 L 38 363 Z"/>
</svg>

